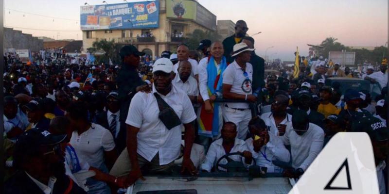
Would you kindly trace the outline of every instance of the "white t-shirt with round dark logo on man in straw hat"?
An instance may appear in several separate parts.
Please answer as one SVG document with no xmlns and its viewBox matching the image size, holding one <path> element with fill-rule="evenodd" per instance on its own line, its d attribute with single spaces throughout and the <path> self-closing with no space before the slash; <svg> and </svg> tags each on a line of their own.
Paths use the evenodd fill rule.
<svg viewBox="0 0 389 194">
<path fill-rule="evenodd" d="M 230 92 L 241 95 L 252 94 L 252 65 L 246 63 L 247 77 L 243 69 L 234 61 L 223 72 L 223 84 L 232 85 Z M 230 108 L 248 109 L 248 103 L 227 103 Z"/>
</svg>

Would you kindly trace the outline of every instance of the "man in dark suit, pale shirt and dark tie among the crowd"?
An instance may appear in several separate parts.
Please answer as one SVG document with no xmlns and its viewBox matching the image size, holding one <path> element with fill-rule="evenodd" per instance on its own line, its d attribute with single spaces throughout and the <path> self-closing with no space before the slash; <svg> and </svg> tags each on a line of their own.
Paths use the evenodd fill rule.
<svg viewBox="0 0 389 194">
<path fill-rule="evenodd" d="M 106 97 L 107 110 L 96 115 L 96 124 L 111 131 L 118 153 L 125 148 L 126 128 L 125 120 L 120 115 L 119 94 L 112 91 Z"/>
</svg>

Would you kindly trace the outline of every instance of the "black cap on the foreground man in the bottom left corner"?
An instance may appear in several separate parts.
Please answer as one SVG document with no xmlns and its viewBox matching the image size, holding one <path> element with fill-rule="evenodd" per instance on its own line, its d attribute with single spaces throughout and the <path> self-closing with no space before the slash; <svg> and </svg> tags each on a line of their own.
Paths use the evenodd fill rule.
<svg viewBox="0 0 389 194">
<path fill-rule="evenodd" d="M 54 146 L 65 139 L 66 135 L 53 135 L 47 130 L 30 129 L 18 137 L 14 150 L 14 163 L 19 164 L 23 156 L 36 153 L 40 146 Z"/>
</svg>

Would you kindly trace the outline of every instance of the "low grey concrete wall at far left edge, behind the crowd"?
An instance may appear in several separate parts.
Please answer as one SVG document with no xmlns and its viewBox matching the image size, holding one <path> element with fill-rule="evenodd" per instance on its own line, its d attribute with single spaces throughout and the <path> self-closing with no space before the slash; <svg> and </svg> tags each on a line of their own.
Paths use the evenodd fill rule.
<svg viewBox="0 0 389 194">
<path fill-rule="evenodd" d="M 39 51 L 43 49 L 43 40 L 25 34 L 12 28 L 4 28 L 4 50 L 6 49 L 31 49 Z"/>
</svg>

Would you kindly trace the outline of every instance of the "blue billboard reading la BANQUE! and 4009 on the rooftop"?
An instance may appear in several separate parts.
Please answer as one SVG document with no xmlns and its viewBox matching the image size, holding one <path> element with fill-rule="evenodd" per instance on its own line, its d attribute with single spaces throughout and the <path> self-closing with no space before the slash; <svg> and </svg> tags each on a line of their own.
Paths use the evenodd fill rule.
<svg viewBox="0 0 389 194">
<path fill-rule="evenodd" d="M 81 6 L 81 30 L 148 29 L 159 27 L 159 0 Z"/>
</svg>

